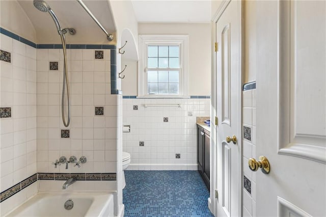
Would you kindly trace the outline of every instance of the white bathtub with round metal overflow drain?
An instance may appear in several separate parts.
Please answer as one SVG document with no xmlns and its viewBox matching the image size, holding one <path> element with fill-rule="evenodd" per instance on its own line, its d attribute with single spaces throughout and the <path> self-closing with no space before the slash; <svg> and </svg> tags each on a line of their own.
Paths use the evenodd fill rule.
<svg viewBox="0 0 326 217">
<path fill-rule="evenodd" d="M 72 200 L 73 207 L 64 204 Z M 114 216 L 110 193 L 38 193 L 5 216 Z"/>
</svg>

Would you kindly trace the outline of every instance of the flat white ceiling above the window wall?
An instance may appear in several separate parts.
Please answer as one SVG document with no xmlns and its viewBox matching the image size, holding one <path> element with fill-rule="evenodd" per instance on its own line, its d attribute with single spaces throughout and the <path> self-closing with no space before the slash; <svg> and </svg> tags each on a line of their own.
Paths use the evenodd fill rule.
<svg viewBox="0 0 326 217">
<path fill-rule="evenodd" d="M 131 0 L 138 22 L 208 23 L 208 0 Z"/>
</svg>

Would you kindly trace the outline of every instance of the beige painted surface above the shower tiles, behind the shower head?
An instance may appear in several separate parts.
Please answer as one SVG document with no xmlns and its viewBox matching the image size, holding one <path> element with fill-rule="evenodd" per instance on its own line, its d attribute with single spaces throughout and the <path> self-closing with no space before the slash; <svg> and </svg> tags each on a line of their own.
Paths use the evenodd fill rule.
<svg viewBox="0 0 326 217">
<path fill-rule="evenodd" d="M 115 32 L 111 9 L 107 1 L 84 0 L 83 2 L 108 33 Z M 19 0 L 18 3 L 33 23 L 37 43 L 61 43 L 55 22 L 53 22 L 48 13 L 37 10 L 31 0 Z M 76 30 L 76 34 L 73 36 L 66 34 L 68 44 L 85 44 L 85 42 L 91 44 L 107 44 L 108 41 L 105 33 L 77 1 L 46 0 L 46 3 L 57 15 L 63 29 L 74 28 Z"/>
</svg>

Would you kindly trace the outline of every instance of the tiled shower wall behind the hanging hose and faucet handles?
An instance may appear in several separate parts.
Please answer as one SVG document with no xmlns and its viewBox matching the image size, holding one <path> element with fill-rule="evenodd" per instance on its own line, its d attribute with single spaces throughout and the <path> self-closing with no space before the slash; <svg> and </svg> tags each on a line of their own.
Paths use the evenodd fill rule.
<svg viewBox="0 0 326 217">
<path fill-rule="evenodd" d="M 101 52 L 99 52 L 101 51 Z M 37 49 L 37 167 L 42 173 L 117 172 L 117 96 L 111 92 L 110 49 L 68 49 L 71 124 L 63 125 L 61 49 Z M 58 67 L 51 68 L 53 63 Z M 52 65 L 53 66 L 53 65 Z M 67 118 L 66 118 L 67 119 Z M 80 168 L 52 162 L 87 157 Z"/>
</svg>

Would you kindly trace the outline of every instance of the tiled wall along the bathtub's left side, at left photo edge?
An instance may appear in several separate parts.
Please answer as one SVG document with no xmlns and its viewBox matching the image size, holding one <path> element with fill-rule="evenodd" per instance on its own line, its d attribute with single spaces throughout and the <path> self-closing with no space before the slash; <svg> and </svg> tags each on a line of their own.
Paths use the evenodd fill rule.
<svg viewBox="0 0 326 217">
<path fill-rule="evenodd" d="M 3 215 L 37 192 L 37 51 L 6 35 L 0 39 L 0 192 L 16 186 L 11 198 L 1 195 Z"/>
</svg>

